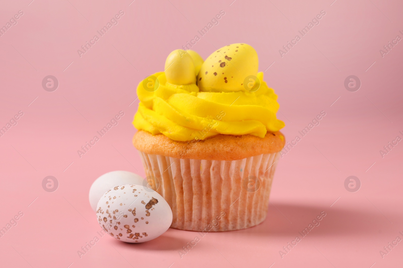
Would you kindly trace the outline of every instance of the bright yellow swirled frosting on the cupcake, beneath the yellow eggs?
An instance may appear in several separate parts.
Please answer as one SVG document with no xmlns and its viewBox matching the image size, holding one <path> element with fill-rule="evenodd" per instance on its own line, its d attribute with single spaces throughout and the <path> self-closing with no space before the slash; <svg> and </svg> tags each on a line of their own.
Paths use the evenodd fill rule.
<svg viewBox="0 0 403 268">
<path fill-rule="evenodd" d="M 133 125 L 176 141 L 204 140 L 218 134 L 263 138 L 285 124 L 276 118 L 277 95 L 263 81 L 263 72 L 257 77 L 260 87 L 255 92 L 200 92 L 195 83 L 174 85 L 167 81 L 166 72 L 158 72 L 137 86 L 140 103 Z M 144 88 L 150 78 L 158 78 L 155 91 Z"/>
</svg>

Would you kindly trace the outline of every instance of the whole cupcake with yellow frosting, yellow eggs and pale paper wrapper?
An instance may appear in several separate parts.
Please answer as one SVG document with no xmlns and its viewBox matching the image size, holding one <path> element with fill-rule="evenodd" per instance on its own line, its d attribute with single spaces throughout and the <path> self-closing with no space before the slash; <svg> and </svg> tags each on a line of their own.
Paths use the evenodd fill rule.
<svg viewBox="0 0 403 268">
<path fill-rule="evenodd" d="M 253 47 L 227 45 L 206 61 L 172 51 L 137 96 L 133 145 L 148 187 L 172 209 L 172 228 L 231 231 L 264 221 L 285 138 Z"/>
</svg>

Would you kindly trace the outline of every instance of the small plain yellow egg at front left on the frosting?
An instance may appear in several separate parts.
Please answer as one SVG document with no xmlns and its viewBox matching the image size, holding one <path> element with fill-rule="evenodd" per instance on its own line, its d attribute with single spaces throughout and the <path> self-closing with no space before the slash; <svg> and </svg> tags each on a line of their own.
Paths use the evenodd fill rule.
<svg viewBox="0 0 403 268">
<path fill-rule="evenodd" d="M 172 51 L 165 61 L 165 76 L 170 84 L 187 85 L 196 82 L 195 64 L 182 49 Z"/>
</svg>

